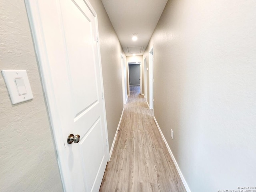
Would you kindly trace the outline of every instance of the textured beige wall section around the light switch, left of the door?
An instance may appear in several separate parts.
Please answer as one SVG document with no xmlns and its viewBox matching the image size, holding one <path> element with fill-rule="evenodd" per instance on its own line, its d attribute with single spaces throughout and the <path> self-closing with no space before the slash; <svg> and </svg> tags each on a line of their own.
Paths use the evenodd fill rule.
<svg viewBox="0 0 256 192">
<path fill-rule="evenodd" d="M 34 99 L 12 105 L 0 75 L 0 191 L 62 191 L 23 0 L 0 1 L 0 70 L 27 70 Z"/>
</svg>

